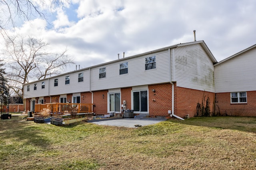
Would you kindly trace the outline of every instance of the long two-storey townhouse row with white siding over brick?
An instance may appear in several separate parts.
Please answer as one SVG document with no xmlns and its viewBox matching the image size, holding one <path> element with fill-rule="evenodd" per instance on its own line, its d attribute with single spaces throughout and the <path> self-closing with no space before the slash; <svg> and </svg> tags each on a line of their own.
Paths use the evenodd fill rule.
<svg viewBox="0 0 256 170">
<path fill-rule="evenodd" d="M 193 117 L 204 97 L 214 103 L 216 59 L 195 41 L 124 57 L 23 85 L 26 110 L 35 103 L 93 103 L 96 115 Z M 213 111 L 213 104 L 210 105 Z"/>
</svg>

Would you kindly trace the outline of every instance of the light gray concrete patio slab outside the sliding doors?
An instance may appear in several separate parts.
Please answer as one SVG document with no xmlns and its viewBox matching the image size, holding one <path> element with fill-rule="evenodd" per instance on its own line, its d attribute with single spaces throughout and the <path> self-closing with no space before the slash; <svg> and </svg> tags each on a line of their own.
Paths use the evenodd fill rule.
<svg viewBox="0 0 256 170">
<path fill-rule="evenodd" d="M 137 128 L 134 125 L 153 125 L 162 121 L 166 121 L 167 119 L 157 119 L 157 118 L 124 118 L 124 119 L 114 119 L 114 120 L 106 120 L 106 121 L 94 121 L 90 123 L 94 123 L 97 125 L 108 125 L 108 126 L 117 126 L 117 127 L 129 127 L 129 128 Z"/>
</svg>

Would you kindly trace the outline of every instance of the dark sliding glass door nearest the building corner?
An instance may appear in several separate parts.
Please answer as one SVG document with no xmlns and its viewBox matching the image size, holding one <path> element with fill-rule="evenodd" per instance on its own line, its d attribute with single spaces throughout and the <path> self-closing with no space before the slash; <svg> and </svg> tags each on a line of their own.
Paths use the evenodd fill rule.
<svg viewBox="0 0 256 170">
<path fill-rule="evenodd" d="M 148 91 L 133 92 L 133 110 L 139 112 L 148 111 Z"/>
</svg>

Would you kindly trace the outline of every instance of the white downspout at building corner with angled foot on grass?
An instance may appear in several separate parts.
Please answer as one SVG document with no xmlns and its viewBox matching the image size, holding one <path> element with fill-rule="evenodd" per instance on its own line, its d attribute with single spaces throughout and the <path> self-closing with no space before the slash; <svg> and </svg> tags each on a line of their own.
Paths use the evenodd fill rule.
<svg viewBox="0 0 256 170">
<path fill-rule="evenodd" d="M 170 59 L 170 84 L 172 85 L 172 114 L 170 114 L 170 116 L 174 116 L 178 119 L 181 119 L 181 120 L 184 120 L 182 119 L 181 117 L 177 116 L 177 115 L 174 115 L 174 84 L 172 83 L 172 69 L 171 69 L 171 51 L 170 51 L 170 48 L 168 49 L 168 52 L 169 52 L 169 59 Z M 173 68 L 173 72 L 175 72 L 175 69 L 174 69 L 174 49 L 172 49 L 172 68 Z M 173 77 L 175 79 L 175 75 L 173 73 Z"/>
</svg>

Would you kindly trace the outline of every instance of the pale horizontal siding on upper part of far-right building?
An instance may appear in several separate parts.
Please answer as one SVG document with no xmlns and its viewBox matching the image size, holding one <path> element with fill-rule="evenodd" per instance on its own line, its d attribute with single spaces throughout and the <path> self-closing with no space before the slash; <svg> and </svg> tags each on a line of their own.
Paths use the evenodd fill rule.
<svg viewBox="0 0 256 170">
<path fill-rule="evenodd" d="M 216 93 L 256 91 L 256 47 L 214 67 Z"/>
</svg>

